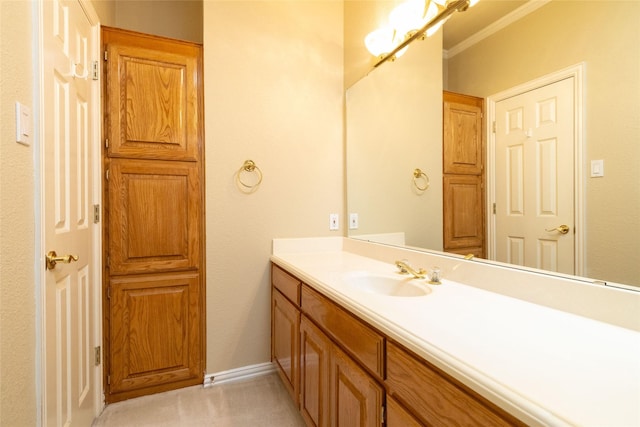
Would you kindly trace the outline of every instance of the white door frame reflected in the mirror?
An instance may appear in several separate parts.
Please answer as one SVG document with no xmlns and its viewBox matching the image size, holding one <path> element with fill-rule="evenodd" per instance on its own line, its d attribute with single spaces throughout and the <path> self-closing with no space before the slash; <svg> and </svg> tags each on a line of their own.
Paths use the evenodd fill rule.
<svg viewBox="0 0 640 427">
<path fill-rule="evenodd" d="M 586 241 L 585 241 L 585 177 L 584 177 L 584 75 L 586 64 L 581 62 L 562 70 L 530 80 L 518 86 L 514 86 L 497 94 L 487 97 L 487 258 L 496 259 L 496 215 L 493 212 L 493 204 L 496 201 L 496 176 L 495 176 L 495 147 L 496 134 L 493 124 L 496 120 L 496 103 L 505 99 L 521 95 L 543 86 L 573 78 L 573 106 L 574 106 L 574 141 L 573 141 L 573 194 L 574 194 L 574 275 L 584 276 L 586 271 Z"/>
</svg>

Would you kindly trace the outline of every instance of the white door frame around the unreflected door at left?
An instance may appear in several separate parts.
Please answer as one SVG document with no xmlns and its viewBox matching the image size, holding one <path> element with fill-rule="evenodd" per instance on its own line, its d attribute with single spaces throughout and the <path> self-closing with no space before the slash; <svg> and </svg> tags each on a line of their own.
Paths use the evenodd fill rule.
<svg viewBox="0 0 640 427">
<path fill-rule="evenodd" d="M 44 300 L 45 300 L 45 277 L 44 277 L 44 253 L 45 253 L 45 213 L 44 213 L 44 188 L 45 177 L 42 174 L 42 165 L 44 164 L 44 82 L 43 82 L 43 64 L 44 64 L 44 43 L 43 43 L 43 3 L 48 0 L 38 0 L 34 3 L 34 27 L 33 27 L 33 45 L 36 50 L 34 56 L 34 68 L 37 73 L 34 76 L 34 104 L 37 105 L 37 109 L 34 111 L 33 126 L 36 130 L 36 137 L 34 138 L 34 149 L 36 150 L 34 155 L 34 220 L 36 226 L 36 242 L 34 253 L 34 279 L 35 279 L 35 292 L 36 292 L 36 405 L 38 413 L 36 420 L 38 425 L 42 425 L 45 421 L 44 414 L 44 402 L 45 402 L 45 360 L 44 360 L 44 334 L 46 333 L 45 313 L 44 313 Z M 91 25 L 93 44 L 90 46 L 90 56 L 93 60 L 100 60 L 100 18 L 96 13 L 90 0 L 74 0 L 80 4 L 80 7 L 87 16 Z M 98 67 L 100 69 L 100 67 Z M 100 79 L 102 76 L 98 76 Z M 89 186 L 92 205 L 98 205 L 98 209 L 101 210 L 102 203 L 102 162 L 101 162 L 101 130 L 102 130 L 102 107 L 101 107 L 101 85 L 98 82 L 91 88 L 92 91 L 92 103 L 90 105 L 90 120 L 92 123 L 92 133 L 90 135 L 91 141 L 94 144 L 94 150 L 91 155 L 90 163 L 93 167 L 94 173 L 92 182 Z M 100 347 L 102 349 L 102 227 L 101 212 L 98 214 L 99 220 L 96 223 L 94 221 L 92 227 L 92 245 L 93 245 L 93 275 L 91 280 L 97 287 L 94 292 L 94 300 L 92 301 L 93 308 L 93 324 L 94 324 L 94 347 Z M 97 267 L 96 267 L 97 266 Z M 95 367 L 92 375 L 92 381 L 95 384 L 94 387 L 94 418 L 97 417 L 104 409 L 104 389 L 102 386 L 102 367 L 104 356 L 101 355 L 101 363 Z"/>
</svg>

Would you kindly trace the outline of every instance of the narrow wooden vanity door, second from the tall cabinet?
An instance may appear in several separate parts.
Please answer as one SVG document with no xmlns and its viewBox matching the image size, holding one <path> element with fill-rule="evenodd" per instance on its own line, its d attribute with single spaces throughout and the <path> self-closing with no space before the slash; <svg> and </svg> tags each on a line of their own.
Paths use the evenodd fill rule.
<svg viewBox="0 0 640 427">
<path fill-rule="evenodd" d="M 300 321 L 300 412 L 307 426 L 328 427 L 331 340 L 305 316 Z"/>
</svg>

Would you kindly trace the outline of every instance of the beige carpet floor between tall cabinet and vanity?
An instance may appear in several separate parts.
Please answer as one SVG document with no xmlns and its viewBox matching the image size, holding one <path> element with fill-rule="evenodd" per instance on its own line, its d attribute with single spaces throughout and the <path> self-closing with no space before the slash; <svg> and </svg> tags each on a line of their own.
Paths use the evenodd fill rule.
<svg viewBox="0 0 640 427">
<path fill-rule="evenodd" d="M 280 378 L 272 373 L 113 403 L 93 426 L 302 427 L 304 421 Z"/>
</svg>

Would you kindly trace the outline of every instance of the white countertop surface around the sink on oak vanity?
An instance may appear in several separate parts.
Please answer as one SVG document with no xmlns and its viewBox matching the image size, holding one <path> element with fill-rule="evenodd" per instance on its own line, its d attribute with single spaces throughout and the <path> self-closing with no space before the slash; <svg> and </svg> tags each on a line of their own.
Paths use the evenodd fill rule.
<svg viewBox="0 0 640 427">
<path fill-rule="evenodd" d="M 640 426 L 640 333 L 448 281 L 421 297 L 345 284 L 396 274 L 341 250 L 272 261 L 531 425 Z"/>
</svg>

